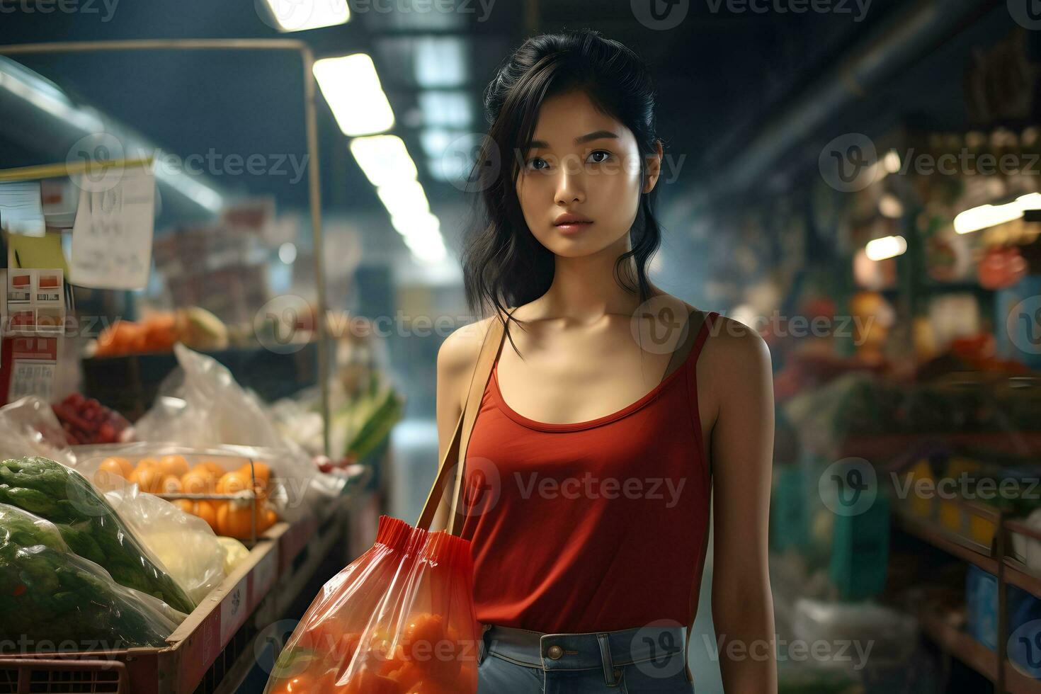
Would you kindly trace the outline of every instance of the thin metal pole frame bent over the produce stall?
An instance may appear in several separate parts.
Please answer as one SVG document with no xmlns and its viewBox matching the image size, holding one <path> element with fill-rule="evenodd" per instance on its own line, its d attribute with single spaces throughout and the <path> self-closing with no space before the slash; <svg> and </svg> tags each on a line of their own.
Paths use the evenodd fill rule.
<svg viewBox="0 0 1041 694">
<path fill-rule="evenodd" d="M 318 339 L 319 388 L 322 397 L 323 443 L 329 451 L 329 363 L 326 342 L 326 281 L 322 254 L 322 178 L 319 171 L 318 117 L 314 108 L 314 54 L 310 47 L 291 38 L 143 38 L 132 41 L 72 41 L 49 44 L 0 46 L 0 55 L 41 53 L 96 53 L 100 51 L 161 50 L 245 50 L 296 51 L 304 63 L 304 114 L 307 131 L 308 187 L 310 188 L 311 234 L 314 242 L 314 282 L 318 285 L 315 334 Z"/>
</svg>

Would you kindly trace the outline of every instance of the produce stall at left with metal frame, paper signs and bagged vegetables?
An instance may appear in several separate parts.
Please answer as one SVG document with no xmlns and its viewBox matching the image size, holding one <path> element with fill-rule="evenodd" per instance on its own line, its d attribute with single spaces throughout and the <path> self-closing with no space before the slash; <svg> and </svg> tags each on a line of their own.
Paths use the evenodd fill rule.
<svg viewBox="0 0 1041 694">
<path fill-rule="evenodd" d="M 271 307 L 271 200 L 156 234 L 151 158 L 0 171 L 0 692 L 235 691 L 382 512 L 403 402 L 375 338 L 328 335 L 306 47 L 0 54 L 171 49 L 302 56 L 314 300 Z"/>
</svg>

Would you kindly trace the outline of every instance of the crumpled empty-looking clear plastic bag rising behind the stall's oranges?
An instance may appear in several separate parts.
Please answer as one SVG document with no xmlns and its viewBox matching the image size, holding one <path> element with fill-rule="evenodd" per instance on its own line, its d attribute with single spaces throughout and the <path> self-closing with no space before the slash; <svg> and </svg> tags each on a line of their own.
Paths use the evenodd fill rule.
<svg viewBox="0 0 1041 694">
<path fill-rule="evenodd" d="M 283 481 L 299 488 L 301 504 L 282 510 L 299 520 L 338 496 L 346 482 L 319 472 L 310 455 L 279 432 L 275 417 L 256 395 L 239 386 L 212 357 L 174 345 L 180 369 L 163 383 L 155 406 L 134 425 L 142 441 L 171 442 L 189 448 L 233 445 L 277 451 Z"/>
</svg>

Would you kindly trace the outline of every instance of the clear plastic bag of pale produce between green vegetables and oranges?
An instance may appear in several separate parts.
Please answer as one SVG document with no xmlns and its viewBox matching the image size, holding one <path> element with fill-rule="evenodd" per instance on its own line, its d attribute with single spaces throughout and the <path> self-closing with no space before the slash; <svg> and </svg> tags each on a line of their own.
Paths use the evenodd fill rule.
<svg viewBox="0 0 1041 694">
<path fill-rule="evenodd" d="M 137 485 L 105 498 L 197 605 L 224 580 L 224 547 L 205 520 Z"/>
</svg>

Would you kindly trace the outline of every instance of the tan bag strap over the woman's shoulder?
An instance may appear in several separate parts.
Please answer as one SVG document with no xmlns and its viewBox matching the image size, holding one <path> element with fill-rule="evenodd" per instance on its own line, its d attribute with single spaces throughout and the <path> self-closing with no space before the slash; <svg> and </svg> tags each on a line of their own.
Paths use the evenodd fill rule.
<svg viewBox="0 0 1041 694">
<path fill-rule="evenodd" d="M 481 343 L 481 352 L 478 355 L 474 372 L 469 379 L 469 391 L 466 393 L 462 412 L 459 414 L 459 420 L 456 422 L 455 431 L 452 434 L 452 442 L 449 444 L 448 451 L 445 452 L 445 457 L 437 468 L 437 478 L 434 480 L 434 486 L 431 487 L 430 493 L 427 495 L 427 503 L 423 505 L 423 512 L 420 514 L 420 520 L 415 524 L 416 528 L 430 530 L 434 515 L 441 506 L 445 490 L 451 484 L 452 497 L 448 507 L 449 520 L 446 530 L 450 535 L 458 535 L 462 532 L 462 523 L 457 521 L 459 515 L 459 496 L 464 472 L 463 467 L 466 462 L 466 447 L 469 443 L 469 434 L 474 429 L 474 422 L 477 420 L 478 410 L 481 407 L 481 395 L 484 393 L 484 389 L 488 385 L 488 379 L 491 377 L 491 366 L 494 364 L 496 357 L 499 355 L 499 351 L 502 349 L 506 338 L 506 330 L 500 319 L 501 315 L 497 314 L 496 317 L 488 322 L 488 330 L 484 335 L 484 341 Z"/>
</svg>

